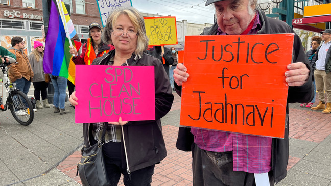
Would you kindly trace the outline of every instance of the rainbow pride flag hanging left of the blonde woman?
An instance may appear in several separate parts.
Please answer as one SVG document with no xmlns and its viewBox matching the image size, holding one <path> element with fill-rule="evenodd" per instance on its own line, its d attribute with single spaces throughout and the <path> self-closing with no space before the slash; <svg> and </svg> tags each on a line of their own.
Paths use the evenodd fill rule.
<svg viewBox="0 0 331 186">
<path fill-rule="evenodd" d="M 56 1 L 62 4 L 64 15 L 62 11 L 59 11 Z M 69 39 L 66 37 L 65 24 L 63 21 L 67 23 L 70 39 L 74 37 L 78 38 L 73 22 L 62 0 L 51 1 L 50 21 L 45 41 L 43 68 L 45 73 L 65 77 L 75 84 L 75 64 L 72 61 L 72 54 L 69 52 L 70 44 Z M 77 50 L 81 46 L 81 43 L 77 41 L 72 42 L 72 44 Z"/>
</svg>

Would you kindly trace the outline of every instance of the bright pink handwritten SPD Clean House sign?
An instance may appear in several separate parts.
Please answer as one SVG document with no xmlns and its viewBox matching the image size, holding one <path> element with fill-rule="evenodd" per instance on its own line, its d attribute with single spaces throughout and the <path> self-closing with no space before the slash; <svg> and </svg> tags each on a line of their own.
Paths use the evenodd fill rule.
<svg viewBox="0 0 331 186">
<path fill-rule="evenodd" d="M 155 120 L 154 66 L 76 66 L 76 123 Z"/>
</svg>

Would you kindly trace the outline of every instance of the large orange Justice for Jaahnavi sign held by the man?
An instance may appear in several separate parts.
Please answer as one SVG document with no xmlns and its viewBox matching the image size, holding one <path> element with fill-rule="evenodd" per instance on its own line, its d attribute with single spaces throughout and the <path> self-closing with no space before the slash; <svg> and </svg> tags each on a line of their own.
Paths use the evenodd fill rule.
<svg viewBox="0 0 331 186">
<path fill-rule="evenodd" d="M 283 138 L 293 38 L 186 36 L 180 125 Z"/>
</svg>

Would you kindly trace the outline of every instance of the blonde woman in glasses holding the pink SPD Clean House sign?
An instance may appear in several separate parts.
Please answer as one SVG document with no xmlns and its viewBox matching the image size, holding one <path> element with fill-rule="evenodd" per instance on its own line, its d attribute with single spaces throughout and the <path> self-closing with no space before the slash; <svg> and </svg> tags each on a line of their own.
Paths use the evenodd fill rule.
<svg viewBox="0 0 331 186">
<path fill-rule="evenodd" d="M 114 10 L 102 39 L 115 49 L 93 60 L 92 65 L 154 66 L 155 120 L 128 122 L 120 116 L 119 121 L 108 122 L 102 145 L 110 185 L 117 185 L 121 174 L 125 185 L 150 185 L 155 164 L 167 156 L 160 119 L 170 111 L 174 99 L 169 78 L 160 60 L 146 54 L 144 18 L 135 8 Z M 69 101 L 79 107 L 75 92 Z M 104 123 L 83 124 L 86 147 L 100 140 L 103 126 Z"/>
</svg>

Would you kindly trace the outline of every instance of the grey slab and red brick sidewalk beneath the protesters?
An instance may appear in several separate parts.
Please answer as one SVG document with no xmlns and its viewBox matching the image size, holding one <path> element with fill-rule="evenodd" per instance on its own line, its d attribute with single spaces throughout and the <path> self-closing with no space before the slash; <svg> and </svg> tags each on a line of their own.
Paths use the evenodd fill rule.
<svg viewBox="0 0 331 186">
<path fill-rule="evenodd" d="M 168 156 L 156 165 L 152 185 L 192 185 L 191 153 L 175 147 L 180 97 L 173 93 L 173 107 L 162 118 Z M 52 108 L 39 110 L 29 126 L 19 125 L 9 111 L 0 113 L 0 185 L 80 185 L 80 152 L 72 151 L 82 143 L 82 126 L 74 123 L 74 110 L 69 110 L 65 115 L 54 114 Z M 288 175 L 277 186 L 331 186 L 330 121 L 331 114 L 290 105 Z"/>
</svg>

